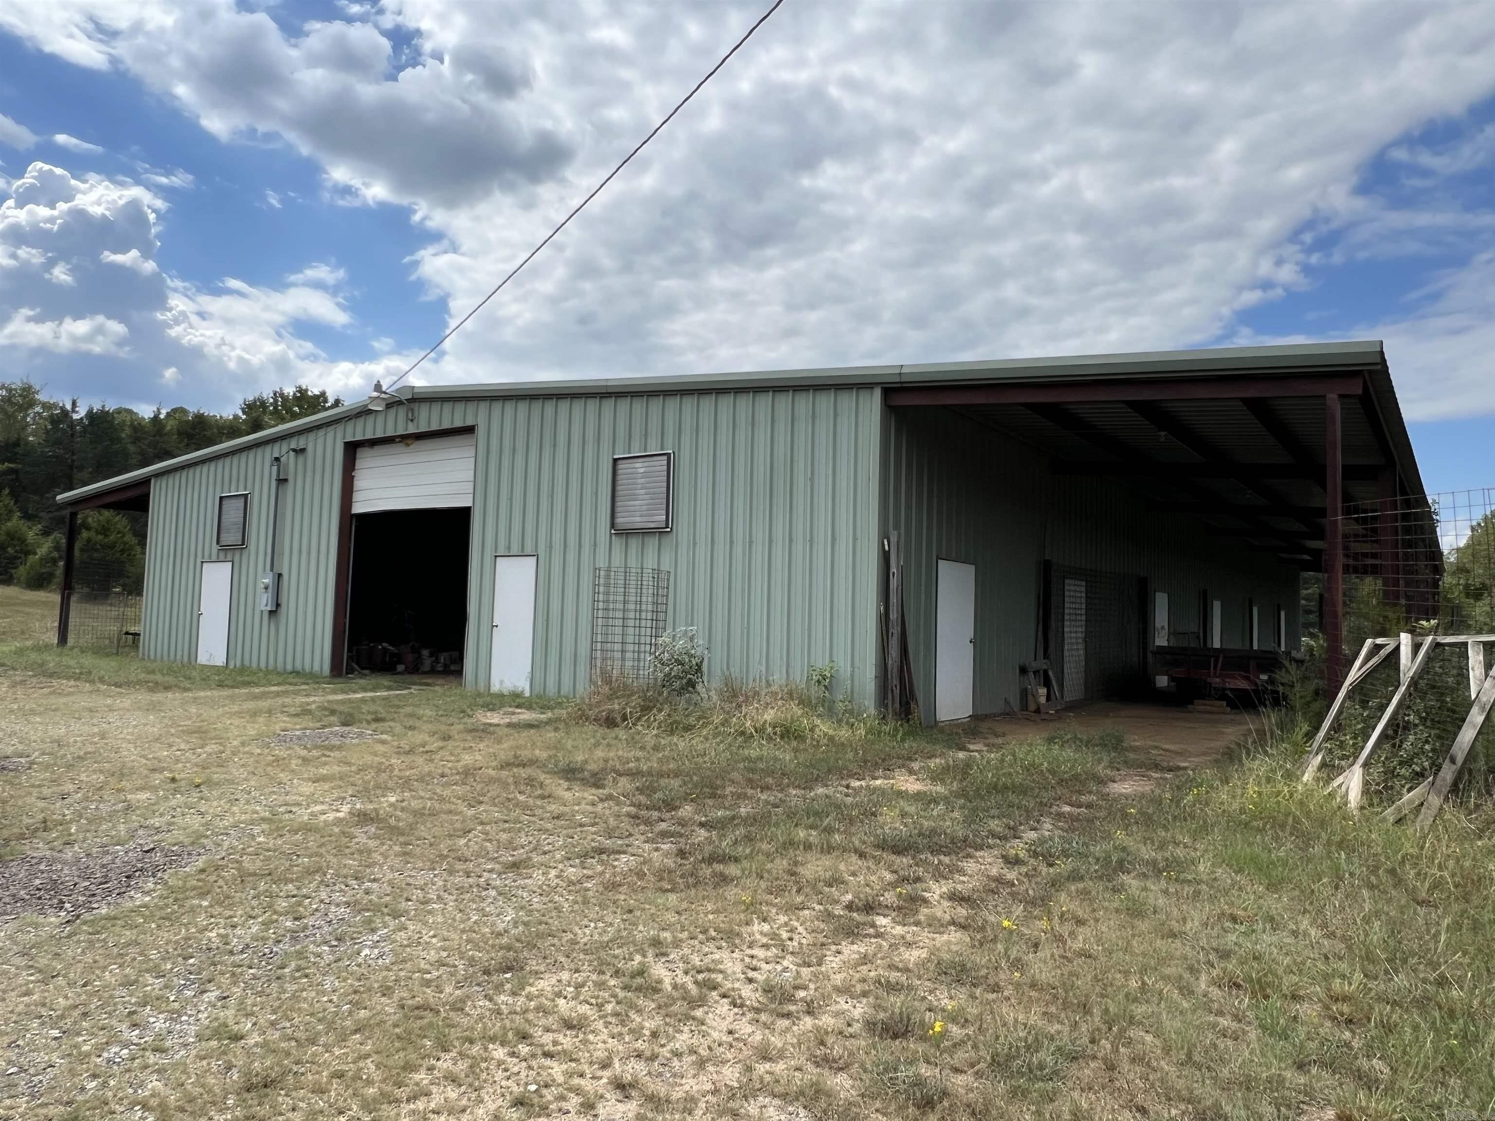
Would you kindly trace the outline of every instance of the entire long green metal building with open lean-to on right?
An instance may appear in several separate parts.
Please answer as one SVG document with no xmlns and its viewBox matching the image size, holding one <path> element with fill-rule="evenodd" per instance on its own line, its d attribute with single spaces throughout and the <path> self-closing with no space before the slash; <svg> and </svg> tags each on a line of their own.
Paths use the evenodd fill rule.
<svg viewBox="0 0 1495 1121">
<path fill-rule="evenodd" d="M 1337 625 L 1344 504 L 1419 493 L 1347 342 L 416 386 L 58 502 L 148 510 L 145 658 L 576 694 L 694 626 L 713 679 L 906 674 L 949 719 L 1023 707 L 1026 662 L 1070 702 L 1268 665 L 1304 569 Z"/>
</svg>

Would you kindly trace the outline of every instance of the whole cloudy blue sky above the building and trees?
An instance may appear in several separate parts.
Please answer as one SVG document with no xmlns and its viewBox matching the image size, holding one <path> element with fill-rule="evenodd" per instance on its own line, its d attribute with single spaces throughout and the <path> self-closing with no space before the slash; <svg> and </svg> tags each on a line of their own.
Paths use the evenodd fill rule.
<svg viewBox="0 0 1495 1121">
<path fill-rule="evenodd" d="M 0 362 L 366 392 L 755 15 L 0 0 Z M 1483 486 L 1491 57 L 1489 4 L 798 0 L 422 378 L 1384 338 Z"/>
</svg>

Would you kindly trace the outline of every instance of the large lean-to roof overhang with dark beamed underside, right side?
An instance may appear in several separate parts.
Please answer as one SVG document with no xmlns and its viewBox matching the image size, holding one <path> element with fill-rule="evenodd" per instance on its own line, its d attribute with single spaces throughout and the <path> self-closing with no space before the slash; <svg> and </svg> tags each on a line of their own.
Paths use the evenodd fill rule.
<svg viewBox="0 0 1495 1121">
<path fill-rule="evenodd" d="M 948 408 L 1048 456 L 1055 474 L 1100 475 L 1139 492 L 1160 513 L 1195 517 L 1209 537 L 1236 538 L 1302 568 L 1325 562 L 1326 398 L 1341 407 L 1347 508 L 1420 495 L 1411 442 L 1380 344 L 1329 353 L 1266 348 L 1227 365 L 1145 363 L 1060 380 L 898 386 L 893 408 Z M 1196 351 L 1208 359 L 1211 351 Z M 1374 508 L 1374 507 L 1372 507 Z M 1341 522 L 1343 547 L 1374 549 L 1374 528 Z"/>
</svg>

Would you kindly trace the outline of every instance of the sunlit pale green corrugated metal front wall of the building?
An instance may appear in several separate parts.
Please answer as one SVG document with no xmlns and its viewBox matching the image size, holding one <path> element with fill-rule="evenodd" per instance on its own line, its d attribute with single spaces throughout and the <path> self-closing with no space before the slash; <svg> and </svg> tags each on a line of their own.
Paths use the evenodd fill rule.
<svg viewBox="0 0 1495 1121">
<path fill-rule="evenodd" d="M 534 688 L 588 677 L 592 572 L 667 568 L 670 626 L 697 626 L 713 677 L 803 679 L 837 662 L 837 688 L 875 702 L 881 392 L 797 389 L 431 401 L 365 413 L 152 484 L 142 652 L 191 661 L 202 560 L 233 559 L 230 665 L 327 673 L 342 444 L 474 426 L 466 683 L 484 688 L 493 556 L 538 556 Z M 283 607 L 257 610 L 268 566 L 271 457 L 281 484 Z M 611 457 L 674 451 L 674 529 L 610 532 Z M 250 544 L 214 549 L 217 496 L 250 490 Z M 419 547 L 411 556 L 419 578 Z"/>
</svg>

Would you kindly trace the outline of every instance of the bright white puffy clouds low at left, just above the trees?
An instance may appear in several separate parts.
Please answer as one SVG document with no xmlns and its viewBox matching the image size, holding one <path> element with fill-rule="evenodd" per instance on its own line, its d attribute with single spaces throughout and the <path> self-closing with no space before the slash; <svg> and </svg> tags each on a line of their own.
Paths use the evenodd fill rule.
<svg viewBox="0 0 1495 1121">
<path fill-rule="evenodd" d="M 205 404 L 311 381 L 357 393 L 404 356 L 335 362 L 300 324 L 353 324 L 341 269 L 311 263 L 284 287 L 224 278 L 211 287 L 161 272 L 160 215 L 148 188 L 76 179 L 33 163 L 0 202 L 0 365 L 58 375 L 81 395 L 145 398 L 154 384 Z M 42 280 L 51 284 L 42 284 Z M 105 360 L 106 359 L 106 360 Z"/>
</svg>

